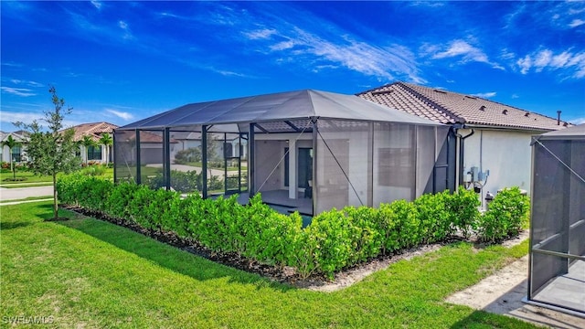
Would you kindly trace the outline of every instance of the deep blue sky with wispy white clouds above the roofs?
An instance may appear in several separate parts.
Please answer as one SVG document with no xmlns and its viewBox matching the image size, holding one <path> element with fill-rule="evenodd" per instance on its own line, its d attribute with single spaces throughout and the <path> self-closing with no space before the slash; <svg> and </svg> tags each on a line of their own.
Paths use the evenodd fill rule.
<svg viewBox="0 0 585 329">
<path fill-rule="evenodd" d="M 585 122 L 585 2 L 6 2 L 1 127 L 396 80 Z"/>
</svg>

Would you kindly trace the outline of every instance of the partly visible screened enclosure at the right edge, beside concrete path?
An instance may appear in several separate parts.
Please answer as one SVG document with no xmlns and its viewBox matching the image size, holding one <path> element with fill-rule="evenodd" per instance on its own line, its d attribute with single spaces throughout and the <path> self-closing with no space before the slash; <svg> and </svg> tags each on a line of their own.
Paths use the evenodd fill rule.
<svg viewBox="0 0 585 329">
<path fill-rule="evenodd" d="M 585 317 L 585 124 L 533 139 L 528 302 Z"/>
</svg>

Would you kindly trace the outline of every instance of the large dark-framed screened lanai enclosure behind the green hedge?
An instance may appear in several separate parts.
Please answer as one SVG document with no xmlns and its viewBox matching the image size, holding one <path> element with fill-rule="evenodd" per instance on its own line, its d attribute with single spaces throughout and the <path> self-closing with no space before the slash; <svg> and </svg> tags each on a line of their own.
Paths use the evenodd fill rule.
<svg viewBox="0 0 585 329">
<path fill-rule="evenodd" d="M 117 182 L 309 216 L 454 188 L 448 126 L 318 90 L 187 104 L 116 129 L 114 147 Z"/>
</svg>

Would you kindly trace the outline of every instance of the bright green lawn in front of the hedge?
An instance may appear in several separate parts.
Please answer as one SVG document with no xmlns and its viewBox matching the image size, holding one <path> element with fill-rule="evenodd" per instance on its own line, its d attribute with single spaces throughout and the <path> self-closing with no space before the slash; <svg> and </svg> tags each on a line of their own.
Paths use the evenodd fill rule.
<svg viewBox="0 0 585 329">
<path fill-rule="evenodd" d="M 51 204 L 0 208 L 0 316 L 53 316 L 61 327 L 532 328 L 443 302 L 527 254 L 527 242 L 455 243 L 338 292 L 274 283 Z"/>
</svg>

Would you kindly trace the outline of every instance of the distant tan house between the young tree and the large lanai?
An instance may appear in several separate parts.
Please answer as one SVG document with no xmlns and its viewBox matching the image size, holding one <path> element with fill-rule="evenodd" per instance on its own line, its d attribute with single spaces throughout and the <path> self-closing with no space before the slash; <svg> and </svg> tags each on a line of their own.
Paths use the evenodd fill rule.
<svg viewBox="0 0 585 329">
<path fill-rule="evenodd" d="M 70 129 L 75 131 L 73 140 L 80 142 L 84 135 L 89 135 L 93 142 L 96 144 L 93 146 L 85 147 L 80 145 L 80 157 L 83 162 L 91 161 L 96 163 L 107 163 L 112 162 L 112 145 L 106 146 L 100 143 L 100 139 L 103 133 L 110 133 L 113 138 L 113 130 L 118 128 L 117 125 L 109 122 L 93 122 L 93 123 L 82 123 Z M 106 147 L 109 147 L 109 152 L 104 152 Z"/>
</svg>

